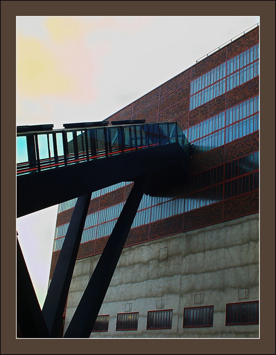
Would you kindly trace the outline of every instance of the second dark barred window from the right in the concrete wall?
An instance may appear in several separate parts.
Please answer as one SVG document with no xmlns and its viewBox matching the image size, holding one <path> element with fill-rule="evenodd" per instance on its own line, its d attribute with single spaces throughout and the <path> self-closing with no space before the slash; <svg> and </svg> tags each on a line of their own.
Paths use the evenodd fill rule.
<svg viewBox="0 0 276 355">
<path fill-rule="evenodd" d="M 212 326 L 213 306 L 184 308 L 183 328 Z"/>
</svg>

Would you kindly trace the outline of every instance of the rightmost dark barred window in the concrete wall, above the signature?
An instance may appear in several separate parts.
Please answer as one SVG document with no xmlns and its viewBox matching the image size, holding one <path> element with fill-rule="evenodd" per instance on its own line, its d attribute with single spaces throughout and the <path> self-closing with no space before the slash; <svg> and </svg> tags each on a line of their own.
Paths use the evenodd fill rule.
<svg viewBox="0 0 276 355">
<path fill-rule="evenodd" d="M 226 304 L 226 326 L 259 324 L 259 301 Z"/>
</svg>

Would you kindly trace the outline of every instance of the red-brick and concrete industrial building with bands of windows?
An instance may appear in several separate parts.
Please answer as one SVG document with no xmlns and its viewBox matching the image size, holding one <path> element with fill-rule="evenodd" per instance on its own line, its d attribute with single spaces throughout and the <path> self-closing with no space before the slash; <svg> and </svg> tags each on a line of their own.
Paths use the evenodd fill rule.
<svg viewBox="0 0 276 355">
<path fill-rule="evenodd" d="M 146 123 L 176 121 L 179 124 L 192 147 L 189 181 L 172 187 L 170 191 L 163 191 L 160 196 L 144 195 L 100 312 L 104 316 L 101 318 L 99 315 L 102 327 L 99 330 L 102 331 L 92 332 L 91 337 L 213 337 L 211 331 L 229 330 L 229 325 L 235 325 L 245 337 L 257 337 L 259 27 L 197 62 L 106 121 L 141 119 Z M 76 299 L 84 291 L 83 286 L 77 288 L 76 285 L 82 285 L 83 278 L 87 282 L 131 187 L 132 182 L 122 182 L 93 193 L 69 292 L 66 325 L 77 305 Z M 74 200 L 59 205 L 50 278 L 73 208 Z M 240 240 L 243 241 L 238 241 L 236 233 L 240 233 Z M 194 241 L 193 235 L 196 235 Z M 210 238 L 213 238 L 212 242 Z M 231 238 L 235 243 L 230 245 Z M 178 253 L 175 248 L 177 240 L 180 243 Z M 176 272 L 178 262 L 187 262 L 188 240 L 189 255 L 197 256 L 193 263 L 198 264 L 198 269 L 189 274 L 189 266 L 186 265 L 188 271 L 169 272 L 170 266 L 174 265 Z M 208 247 L 207 240 L 210 243 Z M 206 250 L 199 247 L 199 243 L 206 245 Z M 216 264 L 217 258 L 220 258 L 218 250 L 224 258 L 225 253 L 232 253 L 229 248 L 235 250 L 232 261 L 213 270 L 208 269 L 211 260 Z M 142 250 L 143 255 L 140 254 Z M 157 276 L 150 276 L 154 269 L 146 269 L 146 265 L 152 266 L 152 250 L 153 254 L 157 253 L 157 264 L 165 265 L 160 262 L 164 258 L 168 266 L 158 276 L 158 283 Z M 132 271 L 124 268 L 124 262 L 130 259 L 132 265 L 133 258 L 141 258 L 141 262 L 134 263 L 136 273 L 131 277 Z M 88 264 L 87 272 L 81 272 Z M 247 269 L 244 269 L 245 265 Z M 232 270 L 232 276 L 218 276 L 228 267 Z M 194 289 L 188 287 L 189 293 L 181 291 L 186 279 L 190 279 L 192 285 L 195 275 L 201 277 L 206 272 L 210 279 L 218 277 L 217 293 L 216 287 L 206 286 L 206 280 L 198 282 Z M 235 281 L 232 280 L 233 274 Z M 147 281 L 152 280 L 152 288 L 157 288 L 156 295 L 149 295 L 148 287 L 138 286 L 139 276 L 143 278 L 142 275 L 145 279 L 147 275 Z M 176 275 L 182 285 L 179 290 L 177 282 L 171 283 Z M 79 277 L 82 277 L 81 281 Z M 126 281 L 128 278 L 129 282 Z M 132 292 L 128 294 L 126 291 L 134 285 L 139 293 L 135 297 Z M 166 285 L 171 285 L 170 292 L 165 291 Z M 117 295 L 118 290 L 124 296 Z M 240 297 L 243 292 L 246 294 L 244 298 Z M 200 307 L 196 299 L 203 296 L 198 295 L 204 295 L 204 300 L 199 302 Z M 237 317 L 232 322 L 229 312 L 233 312 L 234 308 Z M 152 325 L 150 317 L 161 310 L 165 325 Z M 193 314 L 203 312 L 204 317 L 206 313 L 211 321 L 193 323 L 195 318 L 191 311 Z M 239 318 L 239 312 L 247 314 L 243 321 Z M 133 317 L 134 328 L 127 322 L 125 314 Z M 106 326 L 107 319 L 109 327 Z M 119 322 L 123 324 L 122 329 Z M 141 325 L 142 322 L 144 325 Z M 154 334 L 152 330 L 155 330 Z"/>
</svg>

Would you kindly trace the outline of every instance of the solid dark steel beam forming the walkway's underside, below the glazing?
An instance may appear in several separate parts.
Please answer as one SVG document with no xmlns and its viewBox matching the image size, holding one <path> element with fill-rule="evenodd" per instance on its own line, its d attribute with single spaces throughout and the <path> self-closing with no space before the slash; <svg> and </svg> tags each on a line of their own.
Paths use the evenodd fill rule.
<svg viewBox="0 0 276 355">
<path fill-rule="evenodd" d="M 65 144 L 64 151 L 66 149 Z M 92 189 L 97 191 L 122 181 L 135 181 L 141 175 L 162 170 L 162 174 L 158 172 L 153 183 L 148 184 L 147 193 L 150 193 L 151 188 L 155 190 L 157 185 L 163 185 L 163 181 L 167 181 L 164 174 L 168 175 L 169 186 L 174 177 L 185 181 L 188 177 L 188 164 L 189 159 L 180 145 L 171 143 L 41 173 L 19 175 L 17 218 L 85 195 Z"/>
</svg>

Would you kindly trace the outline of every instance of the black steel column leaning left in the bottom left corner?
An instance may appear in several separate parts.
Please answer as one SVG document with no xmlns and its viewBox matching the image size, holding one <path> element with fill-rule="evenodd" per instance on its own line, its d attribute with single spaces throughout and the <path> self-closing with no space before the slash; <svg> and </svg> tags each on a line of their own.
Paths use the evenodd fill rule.
<svg viewBox="0 0 276 355">
<path fill-rule="evenodd" d="M 48 338 L 49 332 L 17 239 L 17 322 L 23 338 Z"/>
</svg>

